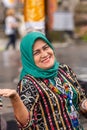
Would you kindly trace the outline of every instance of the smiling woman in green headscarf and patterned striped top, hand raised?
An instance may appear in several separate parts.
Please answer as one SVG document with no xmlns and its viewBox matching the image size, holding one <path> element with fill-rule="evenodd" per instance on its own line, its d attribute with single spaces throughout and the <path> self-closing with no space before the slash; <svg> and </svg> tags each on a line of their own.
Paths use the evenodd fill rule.
<svg viewBox="0 0 87 130">
<path fill-rule="evenodd" d="M 78 113 L 87 99 L 70 67 L 59 63 L 44 34 L 31 32 L 20 44 L 22 71 L 17 92 L 0 89 L 11 99 L 21 130 L 83 130 Z"/>
</svg>

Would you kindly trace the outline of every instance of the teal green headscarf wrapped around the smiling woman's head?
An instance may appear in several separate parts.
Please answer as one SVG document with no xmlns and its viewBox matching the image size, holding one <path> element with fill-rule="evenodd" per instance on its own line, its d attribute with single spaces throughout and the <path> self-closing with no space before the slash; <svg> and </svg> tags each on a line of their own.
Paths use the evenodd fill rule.
<svg viewBox="0 0 87 130">
<path fill-rule="evenodd" d="M 20 73 L 20 79 L 22 79 L 26 74 L 32 75 L 35 78 L 53 78 L 57 76 L 59 63 L 56 59 L 54 65 L 47 70 L 41 69 L 35 65 L 33 45 L 37 39 L 42 39 L 54 50 L 52 44 L 41 32 L 30 32 L 25 35 L 20 44 L 21 62 L 23 67 Z"/>
</svg>

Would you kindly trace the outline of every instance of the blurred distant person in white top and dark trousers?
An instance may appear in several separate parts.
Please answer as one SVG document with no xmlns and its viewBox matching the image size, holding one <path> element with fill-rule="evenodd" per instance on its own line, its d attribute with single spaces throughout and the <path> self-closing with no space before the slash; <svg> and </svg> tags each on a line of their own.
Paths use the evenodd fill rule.
<svg viewBox="0 0 87 130">
<path fill-rule="evenodd" d="M 18 22 L 15 17 L 15 10 L 7 9 L 5 18 L 5 34 L 8 37 L 9 41 L 6 45 L 6 50 L 8 50 L 10 46 L 15 49 L 17 40 L 17 28 Z"/>
</svg>

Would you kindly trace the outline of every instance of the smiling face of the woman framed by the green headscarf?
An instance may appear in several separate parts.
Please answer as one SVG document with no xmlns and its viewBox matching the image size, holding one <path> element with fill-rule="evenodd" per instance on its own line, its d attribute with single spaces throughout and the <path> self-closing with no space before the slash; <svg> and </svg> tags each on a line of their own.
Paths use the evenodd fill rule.
<svg viewBox="0 0 87 130">
<path fill-rule="evenodd" d="M 43 40 L 36 40 L 33 46 L 33 56 L 36 66 L 48 69 L 54 65 L 55 56 L 53 50 Z"/>
</svg>

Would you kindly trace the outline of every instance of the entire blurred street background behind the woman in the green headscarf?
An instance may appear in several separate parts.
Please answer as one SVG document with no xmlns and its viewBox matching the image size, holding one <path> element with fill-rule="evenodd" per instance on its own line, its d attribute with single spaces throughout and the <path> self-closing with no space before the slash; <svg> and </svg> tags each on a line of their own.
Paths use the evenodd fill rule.
<svg viewBox="0 0 87 130">
<path fill-rule="evenodd" d="M 87 0 L 0 0 L 0 88 L 16 89 L 20 41 L 31 31 L 46 34 L 57 60 L 73 69 L 87 95 Z M 10 100 L 2 102 L 1 130 L 18 130 Z M 87 116 L 81 121 L 87 130 Z"/>
</svg>

